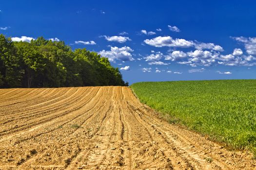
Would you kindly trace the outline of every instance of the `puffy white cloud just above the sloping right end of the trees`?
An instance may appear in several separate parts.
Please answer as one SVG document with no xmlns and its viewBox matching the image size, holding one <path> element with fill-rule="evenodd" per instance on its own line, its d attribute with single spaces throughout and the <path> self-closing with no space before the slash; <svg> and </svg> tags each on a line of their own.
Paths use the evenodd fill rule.
<svg viewBox="0 0 256 170">
<path fill-rule="evenodd" d="M 115 60 L 122 60 L 122 61 L 133 61 L 134 58 L 132 57 L 133 50 L 130 47 L 111 47 L 110 51 L 99 51 L 98 53 L 104 57 L 107 57 L 110 62 L 115 62 Z"/>
</svg>

